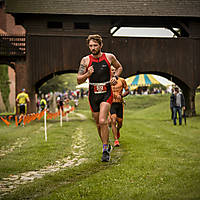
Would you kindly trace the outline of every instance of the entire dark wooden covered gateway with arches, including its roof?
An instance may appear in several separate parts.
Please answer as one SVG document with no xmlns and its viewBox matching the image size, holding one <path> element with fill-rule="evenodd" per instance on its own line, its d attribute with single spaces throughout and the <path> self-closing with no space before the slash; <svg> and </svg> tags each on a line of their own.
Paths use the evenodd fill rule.
<svg viewBox="0 0 200 200">
<path fill-rule="evenodd" d="M 16 92 L 26 88 L 35 112 L 35 93 L 55 74 L 77 72 L 87 55 L 86 38 L 98 33 L 103 51 L 114 53 L 123 77 L 152 73 L 175 82 L 195 115 L 200 85 L 199 0 L 6 0 L 6 12 L 26 29 L 26 56 L 14 62 Z M 116 27 L 164 27 L 176 38 L 113 37 Z M 178 30 L 178 31 L 177 31 Z M 1 55 L 0 55 L 1 56 Z M 1 60 L 1 57 L 0 57 Z"/>
</svg>

